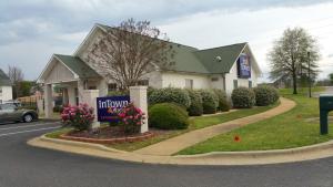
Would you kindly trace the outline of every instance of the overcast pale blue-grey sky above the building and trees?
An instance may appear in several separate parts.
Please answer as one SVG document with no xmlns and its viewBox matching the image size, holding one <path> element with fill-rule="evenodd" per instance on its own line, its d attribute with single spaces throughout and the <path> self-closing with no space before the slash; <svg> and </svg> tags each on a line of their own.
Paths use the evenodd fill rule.
<svg viewBox="0 0 333 187">
<path fill-rule="evenodd" d="M 151 20 L 199 49 L 249 42 L 266 81 L 266 53 L 287 27 L 320 43 L 320 77 L 333 72 L 333 0 L 11 0 L 0 1 L 0 69 L 34 80 L 52 53 L 72 54 L 94 23 Z"/>
</svg>

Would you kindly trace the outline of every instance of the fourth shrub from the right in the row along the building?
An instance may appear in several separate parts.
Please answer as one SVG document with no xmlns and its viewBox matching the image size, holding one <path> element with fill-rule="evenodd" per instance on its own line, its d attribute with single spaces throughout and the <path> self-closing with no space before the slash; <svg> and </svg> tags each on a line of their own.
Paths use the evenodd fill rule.
<svg viewBox="0 0 333 187">
<path fill-rule="evenodd" d="M 212 91 L 200 90 L 203 114 L 214 114 L 219 106 L 219 98 Z"/>
</svg>

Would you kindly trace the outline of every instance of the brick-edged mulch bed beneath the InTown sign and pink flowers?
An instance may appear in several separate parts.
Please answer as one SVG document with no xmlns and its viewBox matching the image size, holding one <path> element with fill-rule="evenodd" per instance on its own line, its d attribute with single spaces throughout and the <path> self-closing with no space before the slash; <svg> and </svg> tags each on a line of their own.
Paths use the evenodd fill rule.
<svg viewBox="0 0 333 187">
<path fill-rule="evenodd" d="M 151 138 L 158 135 L 158 132 L 145 132 L 137 133 L 132 135 L 127 135 L 121 127 L 119 126 L 109 126 L 100 128 L 95 132 L 90 131 L 72 131 L 68 134 L 63 134 L 60 137 L 69 141 L 79 141 L 87 143 L 97 143 L 97 144 L 115 144 L 115 143 L 125 143 L 125 142 L 140 142 L 143 139 Z"/>
</svg>

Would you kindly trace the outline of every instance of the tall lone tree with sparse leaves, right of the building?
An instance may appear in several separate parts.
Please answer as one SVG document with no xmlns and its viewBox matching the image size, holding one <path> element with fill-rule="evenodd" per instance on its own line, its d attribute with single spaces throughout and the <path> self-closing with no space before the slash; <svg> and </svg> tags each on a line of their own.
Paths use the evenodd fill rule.
<svg viewBox="0 0 333 187">
<path fill-rule="evenodd" d="M 310 52 L 310 59 L 307 52 Z M 297 94 L 299 76 L 307 77 L 309 60 L 311 62 L 311 80 L 315 80 L 319 73 L 316 64 L 320 59 L 317 42 L 302 28 L 286 29 L 282 38 L 274 42 L 268 56 L 271 66 L 270 77 L 291 79 L 293 94 Z"/>
</svg>

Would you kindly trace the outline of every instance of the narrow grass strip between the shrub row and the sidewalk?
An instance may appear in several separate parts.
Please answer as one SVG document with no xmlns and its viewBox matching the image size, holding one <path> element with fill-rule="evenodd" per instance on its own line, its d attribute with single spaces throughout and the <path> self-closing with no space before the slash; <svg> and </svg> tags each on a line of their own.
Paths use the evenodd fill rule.
<svg viewBox="0 0 333 187">
<path fill-rule="evenodd" d="M 245 117 L 245 116 L 249 116 L 249 115 L 262 113 L 264 111 L 268 111 L 270 108 L 275 107 L 276 105 L 260 106 L 260 107 L 254 107 L 254 108 L 251 108 L 251 110 L 238 110 L 235 112 L 225 113 L 225 114 L 218 114 L 218 115 L 212 115 L 212 116 L 198 116 L 198 117 L 193 117 L 193 118 L 190 120 L 190 126 L 189 126 L 188 129 L 169 131 L 168 133 L 165 133 L 163 135 L 159 135 L 157 137 L 152 137 L 152 138 L 149 138 L 149 139 L 142 141 L 142 142 L 112 144 L 112 145 L 107 145 L 107 146 L 110 146 L 110 147 L 113 147 L 113 148 L 117 148 L 117 149 L 121 149 L 121 150 L 132 152 L 132 150 L 135 150 L 135 149 L 143 148 L 145 146 L 159 143 L 161 141 L 181 135 L 181 134 L 190 132 L 190 131 L 204 128 L 204 127 L 208 127 L 208 126 L 211 126 L 211 125 L 216 125 L 216 124 L 224 123 L 224 122 L 228 122 L 228 121 L 232 121 L 232 120 L 235 120 L 235 118 L 241 118 L 241 117 Z M 56 132 L 47 134 L 47 137 L 59 138 L 59 136 L 61 134 L 68 133 L 71 129 L 72 128 L 61 128 L 61 129 L 58 129 Z"/>
</svg>

